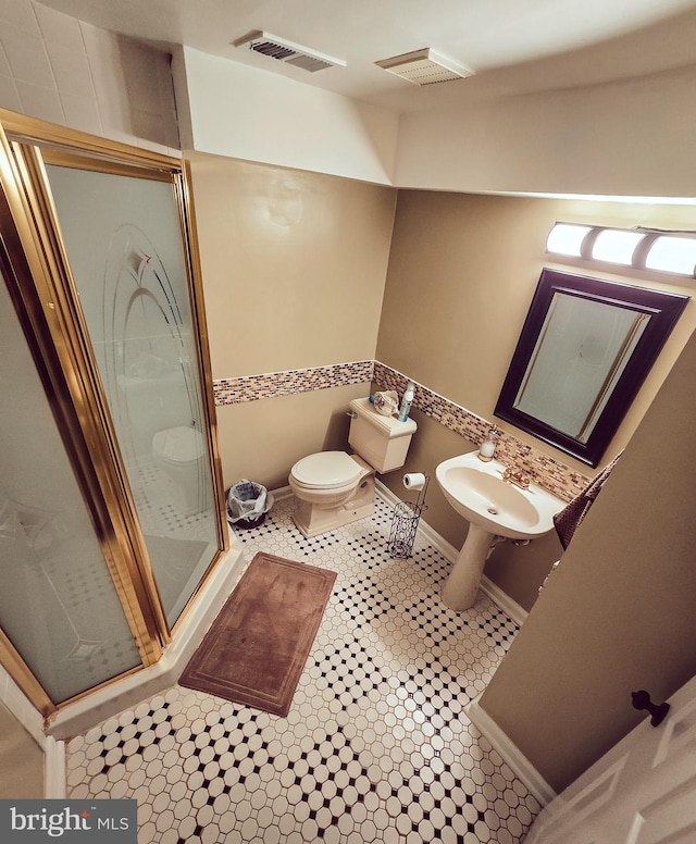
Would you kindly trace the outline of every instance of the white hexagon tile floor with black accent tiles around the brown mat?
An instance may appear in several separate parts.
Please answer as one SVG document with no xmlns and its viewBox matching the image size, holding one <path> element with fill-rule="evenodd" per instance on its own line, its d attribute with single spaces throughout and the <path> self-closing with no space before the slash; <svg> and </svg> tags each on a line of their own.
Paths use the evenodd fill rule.
<svg viewBox="0 0 696 844">
<path fill-rule="evenodd" d="M 135 797 L 138 844 L 521 842 L 539 806 L 462 709 L 515 624 L 487 597 L 445 608 L 449 563 L 391 509 L 306 539 L 282 499 L 239 532 L 338 574 L 287 718 L 174 686 L 69 744 L 69 796 Z"/>
</svg>

